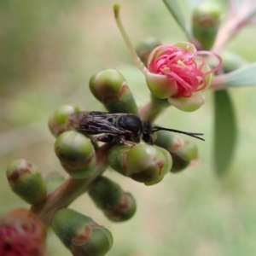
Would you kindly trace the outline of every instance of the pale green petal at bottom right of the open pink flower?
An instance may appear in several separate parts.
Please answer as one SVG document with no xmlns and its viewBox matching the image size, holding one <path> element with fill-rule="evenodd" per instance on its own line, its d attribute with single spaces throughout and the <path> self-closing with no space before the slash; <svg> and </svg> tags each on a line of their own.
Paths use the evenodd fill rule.
<svg viewBox="0 0 256 256">
<path fill-rule="evenodd" d="M 179 110 L 193 112 L 201 108 L 205 102 L 205 97 L 201 92 L 195 92 L 190 97 L 170 97 L 168 98 L 168 102 Z"/>
</svg>

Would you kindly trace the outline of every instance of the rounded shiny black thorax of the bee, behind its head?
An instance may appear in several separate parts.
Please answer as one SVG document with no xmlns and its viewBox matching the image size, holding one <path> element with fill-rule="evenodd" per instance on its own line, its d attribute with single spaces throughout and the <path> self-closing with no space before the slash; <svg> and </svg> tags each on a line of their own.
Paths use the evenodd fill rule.
<svg viewBox="0 0 256 256">
<path fill-rule="evenodd" d="M 138 133 L 142 128 L 142 120 L 136 115 L 123 115 L 119 117 L 118 125 L 120 128 Z"/>
</svg>

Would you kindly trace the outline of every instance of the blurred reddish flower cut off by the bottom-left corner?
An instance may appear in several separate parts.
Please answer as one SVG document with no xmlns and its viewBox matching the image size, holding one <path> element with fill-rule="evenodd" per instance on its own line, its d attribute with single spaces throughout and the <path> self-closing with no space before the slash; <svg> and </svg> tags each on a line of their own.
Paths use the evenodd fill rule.
<svg viewBox="0 0 256 256">
<path fill-rule="evenodd" d="M 0 255 L 43 256 L 45 230 L 37 216 L 17 209 L 0 218 Z"/>
</svg>

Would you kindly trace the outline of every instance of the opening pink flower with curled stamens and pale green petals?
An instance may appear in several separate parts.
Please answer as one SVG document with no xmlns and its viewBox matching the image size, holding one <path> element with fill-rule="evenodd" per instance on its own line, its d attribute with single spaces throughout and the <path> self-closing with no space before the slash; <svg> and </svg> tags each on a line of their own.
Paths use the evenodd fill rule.
<svg viewBox="0 0 256 256">
<path fill-rule="evenodd" d="M 214 55 L 218 66 L 210 69 L 200 55 Z M 221 67 L 221 58 L 210 51 L 196 51 L 194 44 L 162 45 L 148 59 L 149 90 L 183 111 L 194 111 L 204 103 L 202 90 L 210 85 L 212 73 Z"/>
</svg>

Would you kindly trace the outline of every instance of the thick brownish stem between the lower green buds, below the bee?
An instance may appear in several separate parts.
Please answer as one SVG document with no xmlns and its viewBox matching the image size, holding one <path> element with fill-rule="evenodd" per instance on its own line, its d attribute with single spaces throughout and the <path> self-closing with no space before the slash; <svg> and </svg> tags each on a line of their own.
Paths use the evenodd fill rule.
<svg viewBox="0 0 256 256">
<path fill-rule="evenodd" d="M 84 194 L 90 185 L 101 176 L 108 167 L 108 151 L 113 147 L 113 143 L 106 143 L 96 152 L 96 169 L 91 177 L 76 179 L 69 177 L 60 187 L 49 193 L 46 200 L 38 205 L 32 206 L 32 212 L 44 224 L 50 224 L 55 212 L 63 207 L 68 207 L 79 195 Z"/>
</svg>

